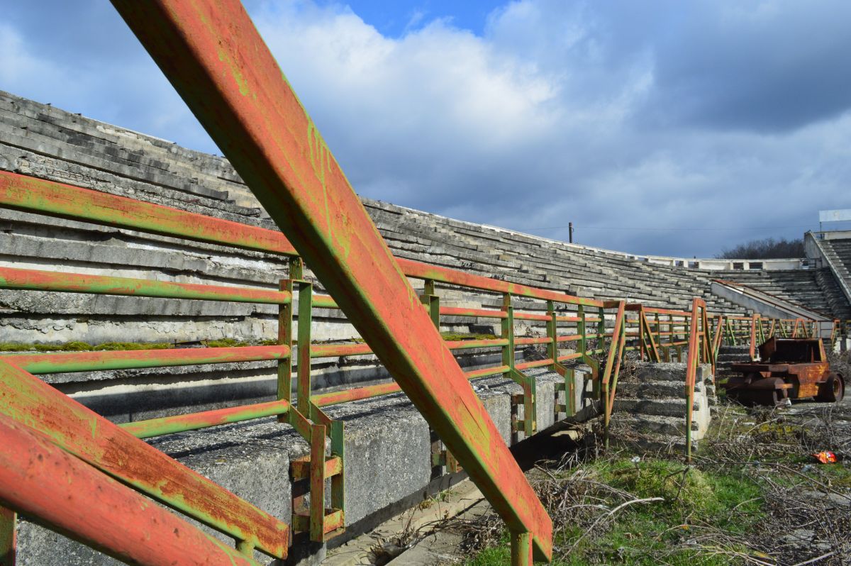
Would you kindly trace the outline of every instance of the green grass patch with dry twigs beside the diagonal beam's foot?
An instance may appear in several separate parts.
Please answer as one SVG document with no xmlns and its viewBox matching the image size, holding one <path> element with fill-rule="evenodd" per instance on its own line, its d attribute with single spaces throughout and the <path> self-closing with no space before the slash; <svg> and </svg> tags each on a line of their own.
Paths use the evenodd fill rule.
<svg viewBox="0 0 851 566">
<path fill-rule="evenodd" d="M 753 553 L 740 535 L 764 517 L 760 488 L 732 471 L 615 456 L 547 472 L 536 483 L 539 493 L 560 495 L 542 494 L 554 520 L 557 565 L 728 564 Z M 711 551 L 696 542 L 717 534 L 727 540 Z M 493 542 L 465 564 L 509 563 L 505 531 Z"/>
</svg>

